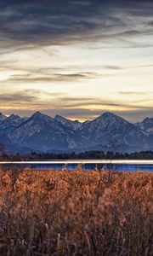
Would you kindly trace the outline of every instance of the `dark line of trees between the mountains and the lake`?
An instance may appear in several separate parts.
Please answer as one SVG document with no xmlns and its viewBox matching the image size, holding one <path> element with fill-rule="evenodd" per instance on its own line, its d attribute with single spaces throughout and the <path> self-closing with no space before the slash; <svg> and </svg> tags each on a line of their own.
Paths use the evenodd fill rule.
<svg viewBox="0 0 153 256">
<path fill-rule="evenodd" d="M 122 153 L 113 151 L 85 151 L 85 152 L 48 152 L 32 151 L 30 154 L 8 154 L 0 144 L 1 160 L 153 160 L 153 151 Z"/>
</svg>

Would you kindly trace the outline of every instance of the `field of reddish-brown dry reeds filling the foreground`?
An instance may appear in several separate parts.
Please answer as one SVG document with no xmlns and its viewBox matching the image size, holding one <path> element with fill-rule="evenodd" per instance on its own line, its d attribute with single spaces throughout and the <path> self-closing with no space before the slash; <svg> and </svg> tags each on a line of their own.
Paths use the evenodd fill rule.
<svg viewBox="0 0 153 256">
<path fill-rule="evenodd" d="M 0 255 L 153 255 L 153 174 L 0 172 Z"/>
</svg>

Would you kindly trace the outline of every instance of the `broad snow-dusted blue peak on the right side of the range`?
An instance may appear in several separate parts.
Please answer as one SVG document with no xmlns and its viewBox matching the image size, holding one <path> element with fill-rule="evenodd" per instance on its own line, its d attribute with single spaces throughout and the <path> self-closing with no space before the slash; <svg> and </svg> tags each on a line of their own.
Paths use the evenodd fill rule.
<svg viewBox="0 0 153 256">
<path fill-rule="evenodd" d="M 114 113 L 103 113 L 80 128 L 82 145 L 95 146 L 107 145 L 111 139 L 119 144 L 125 144 L 131 148 L 142 146 L 147 148 L 146 134 L 126 119 L 118 117 Z"/>
</svg>

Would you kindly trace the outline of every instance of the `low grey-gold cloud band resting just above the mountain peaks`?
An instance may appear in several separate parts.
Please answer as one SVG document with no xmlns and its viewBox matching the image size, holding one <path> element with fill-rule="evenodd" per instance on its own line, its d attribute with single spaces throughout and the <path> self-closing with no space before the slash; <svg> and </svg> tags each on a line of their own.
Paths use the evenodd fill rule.
<svg viewBox="0 0 153 256">
<path fill-rule="evenodd" d="M 43 90 L 16 90 L 10 94 L 0 93 L 1 111 L 24 115 L 40 110 L 43 113 L 64 114 L 69 118 L 92 119 L 96 114 L 115 108 L 116 113 L 139 113 L 150 108 L 116 103 L 100 97 L 68 96 L 65 92 L 48 93 Z M 124 109 L 121 111 L 121 109 Z"/>
</svg>

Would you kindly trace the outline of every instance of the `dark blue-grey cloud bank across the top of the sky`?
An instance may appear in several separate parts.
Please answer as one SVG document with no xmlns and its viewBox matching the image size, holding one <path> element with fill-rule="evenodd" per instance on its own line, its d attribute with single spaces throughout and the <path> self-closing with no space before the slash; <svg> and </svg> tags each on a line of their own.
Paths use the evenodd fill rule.
<svg viewBox="0 0 153 256">
<path fill-rule="evenodd" d="M 2 0 L 0 48 L 5 52 L 37 45 L 141 35 L 152 26 L 144 24 L 139 28 L 136 19 L 150 18 L 147 23 L 152 24 L 152 8 L 152 1 Z"/>
</svg>

